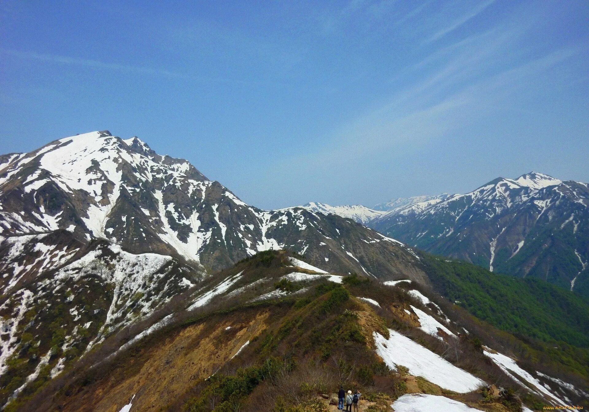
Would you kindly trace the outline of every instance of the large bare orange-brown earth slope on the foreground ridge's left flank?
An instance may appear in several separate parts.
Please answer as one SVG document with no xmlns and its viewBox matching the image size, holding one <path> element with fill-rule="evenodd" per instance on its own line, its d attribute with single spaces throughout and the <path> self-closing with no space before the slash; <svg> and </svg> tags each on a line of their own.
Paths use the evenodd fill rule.
<svg viewBox="0 0 589 412">
<path fill-rule="evenodd" d="M 90 390 L 68 398 L 60 410 L 118 412 L 133 395 L 133 410 L 165 410 L 198 380 L 209 377 L 229 361 L 244 343 L 258 336 L 269 315 L 264 310 L 237 321 L 230 317 L 216 324 L 194 324 L 162 337 L 163 341 L 140 356 L 124 359 L 125 364 Z"/>
</svg>

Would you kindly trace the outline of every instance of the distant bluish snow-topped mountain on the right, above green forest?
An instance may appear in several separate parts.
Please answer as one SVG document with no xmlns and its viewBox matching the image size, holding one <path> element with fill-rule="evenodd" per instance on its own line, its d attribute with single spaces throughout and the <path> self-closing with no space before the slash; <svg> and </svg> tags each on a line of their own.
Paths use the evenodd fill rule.
<svg viewBox="0 0 589 412">
<path fill-rule="evenodd" d="M 369 226 L 428 252 L 589 296 L 588 222 L 587 183 L 531 172 L 401 207 Z"/>
</svg>

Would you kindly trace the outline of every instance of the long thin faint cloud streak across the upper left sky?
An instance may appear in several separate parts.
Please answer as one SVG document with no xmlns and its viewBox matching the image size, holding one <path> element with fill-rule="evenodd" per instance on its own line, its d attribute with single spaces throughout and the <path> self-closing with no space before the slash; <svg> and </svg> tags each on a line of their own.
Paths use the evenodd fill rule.
<svg viewBox="0 0 589 412">
<path fill-rule="evenodd" d="M 0 52 L 4 53 L 5 55 L 13 56 L 13 57 L 16 57 L 19 59 L 58 63 L 58 64 L 64 64 L 64 65 L 85 66 L 85 67 L 90 67 L 90 68 L 94 68 L 94 69 L 105 69 L 105 70 L 114 70 L 114 71 L 120 71 L 120 72 L 139 73 L 139 74 L 151 75 L 151 76 L 164 76 L 167 78 L 183 79 L 183 80 L 190 80 L 190 81 L 239 83 L 239 84 L 251 83 L 251 82 L 241 81 L 238 79 L 198 76 L 198 75 L 192 75 L 190 73 L 179 73 L 179 72 L 169 71 L 169 70 L 161 69 L 161 68 L 148 68 L 148 67 L 143 67 L 143 66 L 127 65 L 127 64 L 123 64 L 123 63 L 109 63 L 109 62 L 102 62 L 102 61 L 94 60 L 94 59 L 84 59 L 84 58 L 70 57 L 70 56 L 59 56 L 59 55 L 37 53 L 37 52 L 31 52 L 31 51 L 0 49 Z"/>
</svg>

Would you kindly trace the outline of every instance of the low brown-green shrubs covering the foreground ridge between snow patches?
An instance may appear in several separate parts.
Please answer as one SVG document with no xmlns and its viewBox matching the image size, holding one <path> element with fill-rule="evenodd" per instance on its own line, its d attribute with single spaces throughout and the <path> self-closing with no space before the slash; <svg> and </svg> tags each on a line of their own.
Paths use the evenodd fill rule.
<svg viewBox="0 0 589 412">
<path fill-rule="evenodd" d="M 168 357 L 168 354 L 170 357 L 169 369 L 164 369 L 164 375 L 161 376 L 168 378 L 174 371 L 176 357 L 187 353 L 196 353 L 195 356 L 201 357 L 203 342 L 210 339 L 213 339 L 209 343 L 213 348 L 226 348 L 232 342 L 232 347 L 236 349 L 227 351 L 225 358 L 216 359 L 217 353 L 208 364 L 194 366 L 192 372 L 186 378 L 183 377 L 184 386 L 174 387 L 175 396 L 154 395 L 160 402 L 157 405 L 159 410 L 321 412 L 326 410 L 329 398 L 340 384 L 346 388 L 359 389 L 367 410 L 373 412 L 391 410 L 390 405 L 396 398 L 416 391 L 456 398 L 487 411 L 515 411 L 520 405 L 520 398 L 528 406 L 541 405 L 540 398 L 530 396 L 520 387 L 514 386 L 514 382 L 484 356 L 483 345 L 501 349 L 508 354 L 517 354 L 520 364 L 529 363 L 526 365 L 529 370 L 541 370 L 574 384 L 582 382 L 559 374 L 562 359 L 558 362 L 541 359 L 544 352 L 535 349 L 530 343 L 494 329 L 473 317 L 466 309 L 452 306 L 444 299 L 436 300 L 436 303 L 452 320 L 466 327 L 469 334 L 459 334 L 458 339 L 440 340 L 417 329 L 415 321 L 405 310 L 411 309 L 411 305 L 422 306 L 421 302 L 398 287 L 384 286 L 358 275 L 345 277 L 342 284 L 325 280 L 284 282 L 280 279 L 292 270 L 284 267 L 284 258 L 284 253 L 272 251 L 256 255 L 215 275 L 216 279 L 210 282 L 219 282 L 219 279 L 245 270 L 243 276 L 247 278 L 243 282 L 251 284 L 270 277 L 272 281 L 267 283 L 267 287 L 289 292 L 286 295 L 274 300 L 256 301 L 252 299 L 258 292 L 252 291 L 216 300 L 206 307 L 183 313 L 173 323 L 155 331 L 131 349 L 121 351 L 114 359 L 88 369 L 105 353 L 110 353 L 134 336 L 137 330 L 127 331 L 125 336 L 118 333 L 88 354 L 88 357 L 82 358 L 85 365 L 79 363 L 77 369 L 70 369 L 51 381 L 47 389 L 37 393 L 37 397 L 28 405 L 35 404 L 37 400 L 39 411 L 51 410 L 57 405 L 62 410 L 75 410 L 68 403 L 79 406 L 81 401 L 91 401 L 93 396 L 101 400 L 104 393 L 111 393 L 125 384 L 136 388 L 134 379 L 141 374 L 145 364 L 153 363 L 154 359 L 161 361 L 161 353 L 165 353 L 164 357 Z M 380 307 L 356 299 L 357 296 L 375 300 L 380 303 Z M 181 307 L 185 303 L 176 304 Z M 263 324 L 257 323 L 257 329 L 252 323 L 254 319 L 263 319 Z M 227 324 L 232 326 L 226 329 Z M 489 383 L 510 388 L 506 393 L 509 398 L 507 395 L 500 399 L 491 398 L 484 391 L 469 394 L 468 397 L 459 396 L 423 378 L 410 376 L 406 368 L 390 370 L 375 356 L 373 341 L 373 332 L 388 337 L 389 329 L 401 331 Z M 174 341 L 189 330 L 194 333 L 194 336 L 189 336 L 193 343 L 182 341 L 178 344 L 180 346 L 175 347 Z M 251 335 L 238 339 L 241 333 Z M 249 345 L 241 347 L 239 356 L 231 358 L 246 340 L 249 340 Z M 166 350 L 162 352 L 164 346 Z M 578 366 L 579 362 L 575 360 L 575 364 Z M 187 370 L 191 370 L 190 366 Z M 194 373 L 193 378 L 190 378 L 191 373 Z M 583 383 L 580 387 L 584 387 Z M 167 391 L 170 390 L 171 386 L 168 386 Z M 133 395 L 134 392 L 125 393 Z M 57 395 L 51 398 L 48 394 Z M 123 404 L 118 402 L 118 408 Z"/>
</svg>

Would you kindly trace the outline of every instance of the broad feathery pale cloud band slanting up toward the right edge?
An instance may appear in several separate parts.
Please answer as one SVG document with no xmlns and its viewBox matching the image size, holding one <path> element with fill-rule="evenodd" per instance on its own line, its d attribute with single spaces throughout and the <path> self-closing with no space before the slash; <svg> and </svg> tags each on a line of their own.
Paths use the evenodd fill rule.
<svg viewBox="0 0 589 412">
<path fill-rule="evenodd" d="M 487 39 L 482 36 L 479 41 L 485 43 Z M 471 43 L 474 48 L 481 46 L 475 39 Z M 401 162 L 398 158 L 401 153 L 407 155 L 421 150 L 432 141 L 448 139 L 465 125 L 477 122 L 477 119 L 488 116 L 494 110 L 508 108 L 507 102 L 522 88 L 541 84 L 556 66 L 586 51 L 587 46 L 557 49 L 460 86 L 464 74 L 459 68 L 469 64 L 465 58 L 472 52 L 466 49 L 439 72 L 392 96 L 391 102 L 334 130 L 329 144 L 323 149 L 294 155 L 289 160 L 283 160 L 283 166 L 287 170 L 305 171 L 293 177 L 297 182 L 333 173 L 347 173 L 350 168 L 356 171 L 355 176 L 350 176 L 356 183 L 372 178 L 370 165 L 376 156 L 388 156 L 388 161 L 392 163 Z M 481 53 L 481 56 L 474 57 L 473 63 L 484 61 L 484 56 L 491 56 L 492 47 Z M 451 83 L 451 92 L 432 101 L 432 86 L 439 82 Z M 277 165 L 273 167 L 279 168 Z"/>
</svg>

